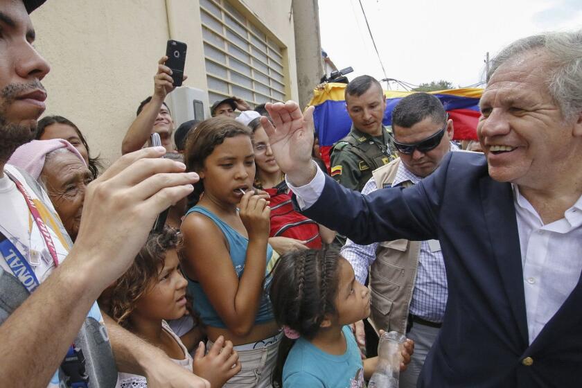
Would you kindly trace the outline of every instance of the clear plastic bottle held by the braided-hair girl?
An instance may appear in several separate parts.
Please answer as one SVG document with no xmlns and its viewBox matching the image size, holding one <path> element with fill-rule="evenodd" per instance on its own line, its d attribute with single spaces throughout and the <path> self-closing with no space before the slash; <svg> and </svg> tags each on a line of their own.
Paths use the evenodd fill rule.
<svg viewBox="0 0 582 388">
<path fill-rule="evenodd" d="M 405 341 L 405 335 L 396 331 L 382 334 L 378 344 L 378 365 L 368 388 L 398 388 L 400 353 Z"/>
</svg>

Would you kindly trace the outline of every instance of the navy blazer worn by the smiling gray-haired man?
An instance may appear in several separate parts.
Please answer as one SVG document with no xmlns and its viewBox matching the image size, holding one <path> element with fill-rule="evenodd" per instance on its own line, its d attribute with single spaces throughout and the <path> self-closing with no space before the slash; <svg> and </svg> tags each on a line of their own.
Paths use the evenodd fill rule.
<svg viewBox="0 0 582 388">
<path fill-rule="evenodd" d="M 368 196 L 326 177 L 303 213 L 360 244 L 441 242 L 448 303 L 418 387 L 582 387 L 582 283 L 530 346 L 511 185 L 482 155 L 451 152 L 421 183 Z"/>
</svg>

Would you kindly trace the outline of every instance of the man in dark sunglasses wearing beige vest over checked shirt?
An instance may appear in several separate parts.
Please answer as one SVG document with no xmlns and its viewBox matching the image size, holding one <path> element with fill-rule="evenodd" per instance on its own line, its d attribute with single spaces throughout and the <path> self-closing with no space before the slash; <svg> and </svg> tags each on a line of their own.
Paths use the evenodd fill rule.
<svg viewBox="0 0 582 388">
<path fill-rule="evenodd" d="M 400 100 L 392 111 L 392 130 L 399 157 L 374 170 L 362 194 L 417 184 L 436 170 L 450 150 L 458 149 L 450 142 L 452 120 L 439 98 L 431 94 L 415 93 Z M 369 321 L 374 328 L 407 333 L 414 340 L 410 364 L 400 373 L 400 388 L 416 387 L 426 355 L 439 334 L 448 297 L 439 240 L 358 245 L 348 239 L 341 254 L 360 283 L 364 284 L 370 269 Z M 367 336 L 367 340 L 373 338 Z"/>
</svg>

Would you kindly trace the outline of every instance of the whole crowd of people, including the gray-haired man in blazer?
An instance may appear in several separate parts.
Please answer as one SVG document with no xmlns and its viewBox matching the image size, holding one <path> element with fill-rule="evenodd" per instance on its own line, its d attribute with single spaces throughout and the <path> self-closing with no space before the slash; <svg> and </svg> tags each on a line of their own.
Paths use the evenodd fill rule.
<svg viewBox="0 0 582 388">
<path fill-rule="evenodd" d="M 43 3 L 0 0 L 3 386 L 365 387 L 391 330 L 403 388 L 576 386 L 582 31 L 497 55 L 469 152 L 438 98 L 386 127 L 355 78 L 329 170 L 292 101 L 174 131 L 163 57 L 105 168 L 73 117 L 39 119 Z"/>
</svg>

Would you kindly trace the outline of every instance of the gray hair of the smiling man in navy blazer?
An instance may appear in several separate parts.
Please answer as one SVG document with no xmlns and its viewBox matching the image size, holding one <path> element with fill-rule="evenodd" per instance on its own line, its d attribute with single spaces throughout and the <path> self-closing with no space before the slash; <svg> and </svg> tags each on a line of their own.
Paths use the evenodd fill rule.
<svg viewBox="0 0 582 388">
<path fill-rule="evenodd" d="M 487 79 L 505 62 L 536 49 L 545 50 L 549 56 L 549 94 L 563 118 L 569 120 L 582 111 L 582 30 L 543 33 L 513 42 L 491 60 Z"/>
</svg>

